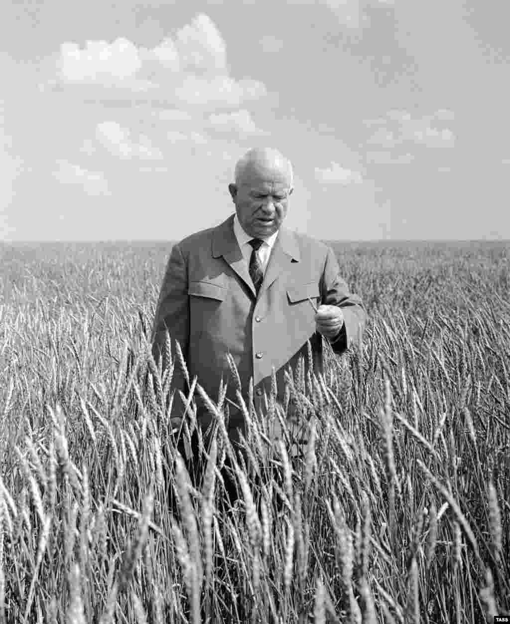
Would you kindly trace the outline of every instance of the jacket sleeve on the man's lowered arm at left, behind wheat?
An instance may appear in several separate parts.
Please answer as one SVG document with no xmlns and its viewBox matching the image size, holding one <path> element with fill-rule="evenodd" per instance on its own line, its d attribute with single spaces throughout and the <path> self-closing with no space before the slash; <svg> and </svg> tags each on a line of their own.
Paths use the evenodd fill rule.
<svg viewBox="0 0 510 624">
<path fill-rule="evenodd" d="M 190 313 L 188 304 L 188 267 L 180 245 L 172 247 L 170 258 L 166 265 L 165 277 L 161 285 L 160 296 L 156 306 L 156 314 L 152 328 L 152 354 L 158 364 L 165 349 L 166 328 L 170 333 L 171 353 L 175 358 L 175 342 L 178 341 L 185 360 L 188 359 L 190 336 Z M 163 371 L 168 366 L 163 357 Z M 171 390 L 175 390 L 171 416 L 182 416 L 183 405 L 178 390 L 187 394 L 185 378 L 180 364 L 175 361 Z"/>
</svg>

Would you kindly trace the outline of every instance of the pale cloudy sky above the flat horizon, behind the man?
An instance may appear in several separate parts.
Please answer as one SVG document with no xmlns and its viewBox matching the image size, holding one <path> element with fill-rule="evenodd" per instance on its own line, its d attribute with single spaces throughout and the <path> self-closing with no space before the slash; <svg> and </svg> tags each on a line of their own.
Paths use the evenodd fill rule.
<svg viewBox="0 0 510 624">
<path fill-rule="evenodd" d="M 510 239 L 510 2 L 6 0 L 0 240 L 180 240 L 248 149 L 323 240 Z"/>
</svg>

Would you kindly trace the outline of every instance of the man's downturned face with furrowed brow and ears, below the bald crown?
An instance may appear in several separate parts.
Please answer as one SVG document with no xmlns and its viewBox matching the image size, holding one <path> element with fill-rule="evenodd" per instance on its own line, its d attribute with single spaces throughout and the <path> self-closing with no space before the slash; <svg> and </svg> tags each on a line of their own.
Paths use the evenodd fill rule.
<svg viewBox="0 0 510 624">
<path fill-rule="evenodd" d="M 229 185 L 244 232 L 266 238 L 279 230 L 292 193 L 287 177 L 277 169 L 254 168 L 244 173 L 239 185 Z"/>
</svg>

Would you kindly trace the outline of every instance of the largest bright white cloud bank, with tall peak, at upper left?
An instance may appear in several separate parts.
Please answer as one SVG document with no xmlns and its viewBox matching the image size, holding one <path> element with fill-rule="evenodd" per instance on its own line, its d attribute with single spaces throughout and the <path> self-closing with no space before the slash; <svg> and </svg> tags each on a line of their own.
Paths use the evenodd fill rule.
<svg viewBox="0 0 510 624">
<path fill-rule="evenodd" d="M 211 19 L 200 14 L 153 48 L 120 37 L 60 46 L 47 86 L 74 85 L 97 99 L 175 102 L 180 107 L 238 108 L 267 94 L 258 80 L 229 76 L 226 44 Z M 44 87 L 44 85 L 43 85 Z"/>
</svg>

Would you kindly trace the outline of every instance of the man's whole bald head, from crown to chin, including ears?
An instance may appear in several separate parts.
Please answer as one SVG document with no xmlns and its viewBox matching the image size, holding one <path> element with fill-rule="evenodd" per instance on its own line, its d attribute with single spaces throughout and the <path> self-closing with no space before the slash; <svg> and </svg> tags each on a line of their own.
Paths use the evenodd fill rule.
<svg viewBox="0 0 510 624">
<path fill-rule="evenodd" d="M 287 215 L 292 193 L 292 165 L 278 150 L 256 147 L 236 165 L 236 183 L 229 191 L 244 232 L 267 238 Z"/>
</svg>

